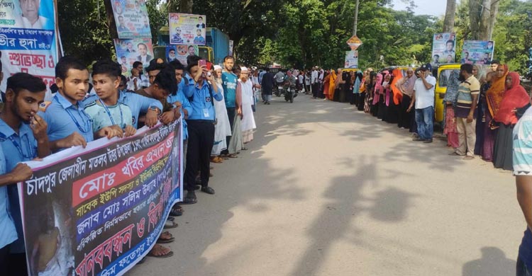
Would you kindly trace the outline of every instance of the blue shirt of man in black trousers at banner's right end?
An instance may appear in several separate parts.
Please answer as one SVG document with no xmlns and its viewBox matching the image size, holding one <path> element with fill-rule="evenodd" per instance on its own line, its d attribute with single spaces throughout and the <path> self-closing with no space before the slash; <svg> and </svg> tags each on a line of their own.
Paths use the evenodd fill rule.
<svg viewBox="0 0 532 276">
<path fill-rule="evenodd" d="M 211 98 L 209 89 L 212 91 L 214 100 L 223 100 L 221 93 L 216 93 L 211 84 L 204 81 L 203 86 L 199 88 L 194 79 L 188 79 L 188 88 L 185 89 L 185 96 L 189 98 L 190 105 L 192 105 L 192 115 L 189 115 L 188 120 L 211 120 L 214 121 L 214 103 Z"/>
</svg>

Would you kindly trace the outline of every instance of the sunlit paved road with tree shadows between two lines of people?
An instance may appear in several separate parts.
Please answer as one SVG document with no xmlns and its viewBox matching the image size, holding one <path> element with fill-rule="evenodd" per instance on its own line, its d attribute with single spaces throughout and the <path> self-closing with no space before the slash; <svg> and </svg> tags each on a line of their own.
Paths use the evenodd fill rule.
<svg viewBox="0 0 532 276">
<path fill-rule="evenodd" d="M 275 99 L 177 219 L 174 256 L 129 275 L 515 275 L 514 178 L 343 103 Z"/>
</svg>

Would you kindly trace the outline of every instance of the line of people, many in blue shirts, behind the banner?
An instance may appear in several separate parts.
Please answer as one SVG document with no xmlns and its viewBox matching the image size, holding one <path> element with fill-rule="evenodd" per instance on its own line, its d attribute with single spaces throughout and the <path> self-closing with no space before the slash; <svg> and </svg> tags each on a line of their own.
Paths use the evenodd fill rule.
<svg viewBox="0 0 532 276">
<path fill-rule="evenodd" d="M 165 229 L 177 226 L 174 217 L 183 213 L 181 205 L 197 202 L 196 190 L 214 195 L 210 162 L 237 158 L 253 140 L 253 91 L 260 85 L 256 79 L 252 83 L 248 68 L 235 67 L 230 56 L 223 68 L 215 65 L 210 70 L 212 64 L 200 57 L 191 56 L 187 62 L 184 67 L 179 61 L 154 59 L 145 68 L 148 78 L 143 64 L 134 64 L 128 79 L 110 59 L 93 64 L 89 77 L 85 64 L 62 57 L 55 66 L 50 101 L 45 101 L 47 87 L 37 76 L 9 76 L 0 113 L 0 275 L 27 274 L 16 183 L 30 178 L 32 171 L 23 161 L 85 147 L 94 139 L 131 137 L 140 127 L 182 118 L 187 194 L 172 207 Z M 163 232 L 148 256 L 170 257 L 170 248 L 160 243 L 172 241 L 172 234 Z M 47 262 L 35 265 L 35 271 L 43 271 Z"/>
</svg>

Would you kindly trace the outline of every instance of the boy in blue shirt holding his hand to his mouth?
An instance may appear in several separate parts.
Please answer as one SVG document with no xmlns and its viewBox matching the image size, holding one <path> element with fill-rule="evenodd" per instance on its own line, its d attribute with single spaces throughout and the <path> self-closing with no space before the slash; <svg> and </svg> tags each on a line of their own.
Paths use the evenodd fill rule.
<svg viewBox="0 0 532 276">
<path fill-rule="evenodd" d="M 50 154 L 46 121 L 37 112 L 43 103 L 46 85 L 43 80 L 26 73 L 16 73 L 7 79 L 6 103 L 0 114 L 0 146 L 5 156 L 6 171 L 18 163 Z M 11 215 L 17 231 L 17 240 L 11 243 L 9 264 L 16 274 L 25 275 L 26 248 L 24 246 L 22 217 L 16 185 L 8 186 Z M 22 271 L 23 270 L 23 271 Z"/>
</svg>

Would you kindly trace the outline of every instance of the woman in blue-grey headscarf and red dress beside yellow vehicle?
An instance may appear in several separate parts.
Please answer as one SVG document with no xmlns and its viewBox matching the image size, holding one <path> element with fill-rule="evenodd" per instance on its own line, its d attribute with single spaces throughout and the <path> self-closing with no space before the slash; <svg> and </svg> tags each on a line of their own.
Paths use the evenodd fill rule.
<svg viewBox="0 0 532 276">
<path fill-rule="evenodd" d="M 447 90 L 443 97 L 443 133 L 447 135 L 447 146 L 452 146 L 453 149 L 458 148 L 458 129 L 456 128 L 455 106 L 458 101 L 458 87 L 460 86 L 460 71 L 453 70 L 450 73 Z"/>
</svg>

